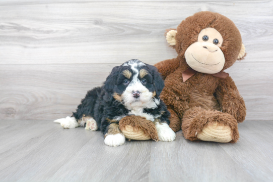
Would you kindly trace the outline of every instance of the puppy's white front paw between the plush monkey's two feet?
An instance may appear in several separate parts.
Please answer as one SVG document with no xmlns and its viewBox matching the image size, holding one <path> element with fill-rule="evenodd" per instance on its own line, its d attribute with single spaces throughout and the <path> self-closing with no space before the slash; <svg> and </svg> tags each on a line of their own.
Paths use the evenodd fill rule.
<svg viewBox="0 0 273 182">
<path fill-rule="evenodd" d="M 175 139 L 175 133 L 167 123 L 160 124 L 157 122 L 155 128 L 160 141 L 173 141 Z"/>
</svg>

